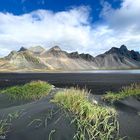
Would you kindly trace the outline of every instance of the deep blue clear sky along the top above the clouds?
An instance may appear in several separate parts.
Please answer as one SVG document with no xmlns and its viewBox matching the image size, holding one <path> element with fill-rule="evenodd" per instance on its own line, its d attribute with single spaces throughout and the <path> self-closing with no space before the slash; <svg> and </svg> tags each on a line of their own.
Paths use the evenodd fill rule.
<svg viewBox="0 0 140 140">
<path fill-rule="evenodd" d="M 120 7 L 121 0 L 107 0 L 113 8 Z M 102 0 L 1 0 L 0 11 L 10 12 L 15 15 L 29 13 L 37 9 L 64 11 L 71 7 L 87 5 L 91 8 L 91 16 L 99 19 L 102 10 Z"/>
</svg>

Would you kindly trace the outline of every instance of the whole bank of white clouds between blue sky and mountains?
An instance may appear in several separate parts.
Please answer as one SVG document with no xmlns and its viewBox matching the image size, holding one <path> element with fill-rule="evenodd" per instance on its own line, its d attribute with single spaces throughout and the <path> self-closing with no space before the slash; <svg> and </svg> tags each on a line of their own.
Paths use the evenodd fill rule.
<svg viewBox="0 0 140 140">
<path fill-rule="evenodd" d="M 129 2 L 132 3 L 128 8 Z M 90 8 L 84 6 L 57 13 L 49 10 L 37 10 L 19 16 L 0 13 L 0 55 L 6 55 L 11 50 L 18 50 L 21 46 L 34 45 L 43 45 L 46 48 L 59 45 L 67 51 L 87 52 L 93 55 L 121 44 L 138 50 L 140 44 L 138 25 L 140 24 L 136 17 L 140 12 L 137 13 L 135 9 L 135 12 L 131 13 L 131 8 L 138 7 L 138 3 L 136 6 L 134 3 L 135 1 L 132 0 L 124 0 L 121 7 L 116 10 L 109 3 L 103 3 L 101 15 L 106 20 L 106 24 L 96 23 L 95 25 L 90 21 Z M 125 16 L 123 10 L 127 11 L 127 9 L 131 11 L 132 21 L 127 19 L 125 23 L 122 21 Z M 133 18 L 133 16 L 136 17 Z M 115 17 L 117 21 L 114 22 Z M 125 23 L 124 30 L 120 21 Z"/>
</svg>

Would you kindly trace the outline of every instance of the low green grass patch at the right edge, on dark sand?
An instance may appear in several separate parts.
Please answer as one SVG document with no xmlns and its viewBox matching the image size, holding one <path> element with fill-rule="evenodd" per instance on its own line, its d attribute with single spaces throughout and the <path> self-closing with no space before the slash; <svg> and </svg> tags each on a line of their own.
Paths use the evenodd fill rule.
<svg viewBox="0 0 140 140">
<path fill-rule="evenodd" d="M 123 87 L 122 90 L 117 93 L 107 92 L 107 94 L 103 96 L 103 100 L 114 103 L 127 97 L 140 99 L 140 84 L 131 84 L 130 86 Z"/>
</svg>

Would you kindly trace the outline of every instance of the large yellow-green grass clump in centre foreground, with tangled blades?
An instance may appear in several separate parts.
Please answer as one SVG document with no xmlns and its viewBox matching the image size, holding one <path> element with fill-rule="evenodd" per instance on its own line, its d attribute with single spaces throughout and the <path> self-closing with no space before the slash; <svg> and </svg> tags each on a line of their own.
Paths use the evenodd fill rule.
<svg viewBox="0 0 140 140">
<path fill-rule="evenodd" d="M 53 102 L 73 114 L 77 126 L 75 140 L 107 140 L 118 138 L 117 113 L 114 109 L 92 104 L 88 92 L 75 88 L 58 92 Z"/>
</svg>

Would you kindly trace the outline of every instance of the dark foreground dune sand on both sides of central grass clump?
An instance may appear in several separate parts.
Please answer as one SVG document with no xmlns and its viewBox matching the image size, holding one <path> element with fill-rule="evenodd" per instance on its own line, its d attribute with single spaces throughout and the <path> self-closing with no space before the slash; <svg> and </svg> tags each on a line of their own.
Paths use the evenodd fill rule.
<svg viewBox="0 0 140 140">
<path fill-rule="evenodd" d="M 0 97 L 0 118 L 9 113 L 20 112 L 19 118 L 12 121 L 7 140 L 72 140 L 75 125 L 71 124 L 70 114 L 65 113 L 56 104 L 50 102 L 58 90 L 54 89 L 49 96 L 35 102 L 19 102 Z M 102 95 L 91 95 L 91 100 L 105 105 Z M 140 101 L 128 98 L 114 105 L 118 112 L 120 135 L 130 140 L 140 139 Z M 126 138 L 127 140 L 128 138 Z"/>
</svg>

